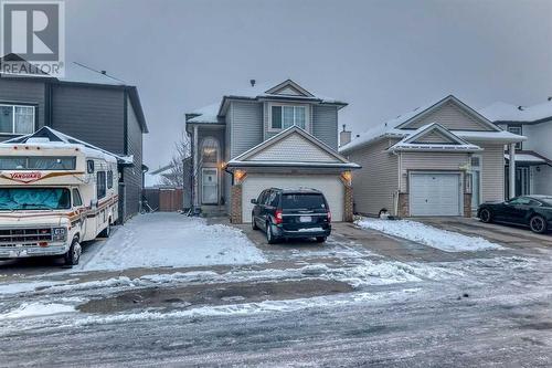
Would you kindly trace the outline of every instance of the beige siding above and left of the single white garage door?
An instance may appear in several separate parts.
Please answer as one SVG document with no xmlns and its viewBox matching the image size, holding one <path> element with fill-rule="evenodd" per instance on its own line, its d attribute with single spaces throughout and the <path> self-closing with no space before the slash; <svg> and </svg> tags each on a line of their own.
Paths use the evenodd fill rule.
<svg viewBox="0 0 552 368">
<path fill-rule="evenodd" d="M 408 170 L 460 171 L 468 164 L 468 154 L 401 153 L 401 191 L 408 192 Z"/>
</svg>

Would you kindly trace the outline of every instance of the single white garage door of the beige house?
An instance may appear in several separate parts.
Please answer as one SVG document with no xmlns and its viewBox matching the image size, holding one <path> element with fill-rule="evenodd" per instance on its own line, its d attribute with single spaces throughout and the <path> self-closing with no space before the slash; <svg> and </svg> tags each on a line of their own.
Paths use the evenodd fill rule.
<svg viewBox="0 0 552 368">
<path fill-rule="evenodd" d="M 459 174 L 411 174 L 411 215 L 460 215 Z"/>
</svg>

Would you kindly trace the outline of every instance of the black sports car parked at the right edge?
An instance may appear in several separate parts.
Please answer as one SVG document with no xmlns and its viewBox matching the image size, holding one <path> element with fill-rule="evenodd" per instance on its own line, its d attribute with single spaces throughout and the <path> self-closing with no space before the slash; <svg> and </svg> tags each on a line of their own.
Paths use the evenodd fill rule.
<svg viewBox="0 0 552 368">
<path fill-rule="evenodd" d="M 521 196 L 506 202 L 487 202 L 479 206 L 477 217 L 482 222 L 502 222 L 529 227 L 544 233 L 552 229 L 552 197 Z"/>
</svg>

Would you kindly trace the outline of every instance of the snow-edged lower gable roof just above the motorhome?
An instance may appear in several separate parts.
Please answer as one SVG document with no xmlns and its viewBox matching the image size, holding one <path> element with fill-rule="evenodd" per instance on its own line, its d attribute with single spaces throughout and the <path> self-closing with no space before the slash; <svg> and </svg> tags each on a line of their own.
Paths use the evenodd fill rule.
<svg viewBox="0 0 552 368">
<path fill-rule="evenodd" d="M 33 145 L 36 144 L 36 145 L 41 145 L 41 146 L 51 146 L 51 147 L 75 146 L 75 147 L 78 147 L 83 151 L 86 151 L 88 149 L 88 150 L 94 150 L 96 153 L 102 153 L 102 154 L 110 156 L 110 157 L 115 157 L 119 165 L 134 166 L 134 156 L 132 155 L 121 156 L 121 155 L 113 154 L 108 150 L 105 150 L 103 148 L 91 145 L 89 143 L 86 143 L 84 140 L 74 138 L 74 137 L 68 136 L 64 133 L 52 129 L 51 127 L 47 127 L 47 126 L 44 126 L 32 134 L 28 134 L 25 136 L 21 136 L 21 137 L 6 140 L 3 143 L 0 143 L 0 145 L 22 145 L 22 144 L 26 144 L 26 143 L 33 144 Z"/>
</svg>

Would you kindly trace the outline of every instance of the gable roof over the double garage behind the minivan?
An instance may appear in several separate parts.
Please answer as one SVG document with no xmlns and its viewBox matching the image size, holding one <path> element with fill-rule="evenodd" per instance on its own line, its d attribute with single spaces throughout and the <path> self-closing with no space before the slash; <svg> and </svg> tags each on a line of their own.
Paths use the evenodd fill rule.
<svg viewBox="0 0 552 368">
<path fill-rule="evenodd" d="M 265 156 L 261 157 L 263 153 L 266 153 L 276 145 L 284 143 L 286 139 L 290 139 L 293 136 L 298 136 L 304 139 L 304 145 L 309 145 L 311 149 L 315 151 L 318 150 L 318 155 L 320 157 L 323 156 L 322 159 L 317 159 L 314 157 L 308 157 L 301 159 L 299 155 L 295 151 L 286 151 L 288 156 L 278 156 L 275 158 L 274 156 Z M 298 147 L 297 144 L 294 143 L 294 148 L 297 150 L 306 149 L 307 147 Z M 349 168 L 355 169 L 360 168 L 359 165 L 349 162 L 347 158 L 336 153 L 329 146 L 327 146 L 323 141 L 317 139 L 312 135 L 308 134 L 304 129 L 291 126 L 279 134 L 270 137 L 269 139 L 261 143 L 259 145 L 246 150 L 245 153 L 236 156 L 232 160 L 227 162 L 227 167 L 243 167 L 243 166 L 273 166 L 273 167 L 328 167 L 328 168 Z"/>
</svg>

